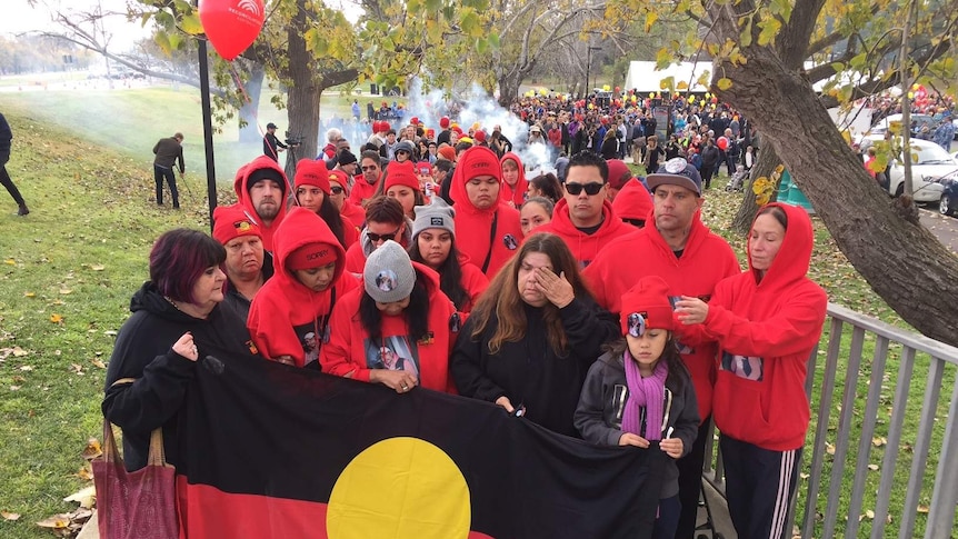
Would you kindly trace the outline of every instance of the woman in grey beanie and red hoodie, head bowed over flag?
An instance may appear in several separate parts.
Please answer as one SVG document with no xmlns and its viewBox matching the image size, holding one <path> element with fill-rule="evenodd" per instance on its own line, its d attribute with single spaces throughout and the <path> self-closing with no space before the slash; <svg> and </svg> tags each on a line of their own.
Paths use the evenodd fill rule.
<svg viewBox="0 0 958 539">
<path fill-rule="evenodd" d="M 382 383 L 397 393 L 420 385 L 447 391 L 449 350 L 459 328 L 439 276 L 387 241 L 366 261 L 362 282 L 332 310 L 329 342 L 319 355 L 322 371 Z"/>
</svg>

